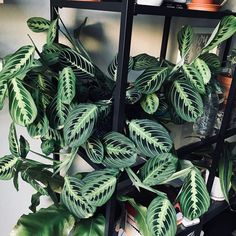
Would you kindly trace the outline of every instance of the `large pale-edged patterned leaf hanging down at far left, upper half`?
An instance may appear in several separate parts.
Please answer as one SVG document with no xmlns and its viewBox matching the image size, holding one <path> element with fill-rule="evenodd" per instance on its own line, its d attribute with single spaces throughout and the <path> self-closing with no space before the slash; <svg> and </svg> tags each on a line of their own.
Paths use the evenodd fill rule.
<svg viewBox="0 0 236 236">
<path fill-rule="evenodd" d="M 27 126 L 35 120 L 37 108 L 31 94 L 20 80 L 13 78 L 8 83 L 9 110 L 12 120 L 22 126 Z"/>
</svg>

